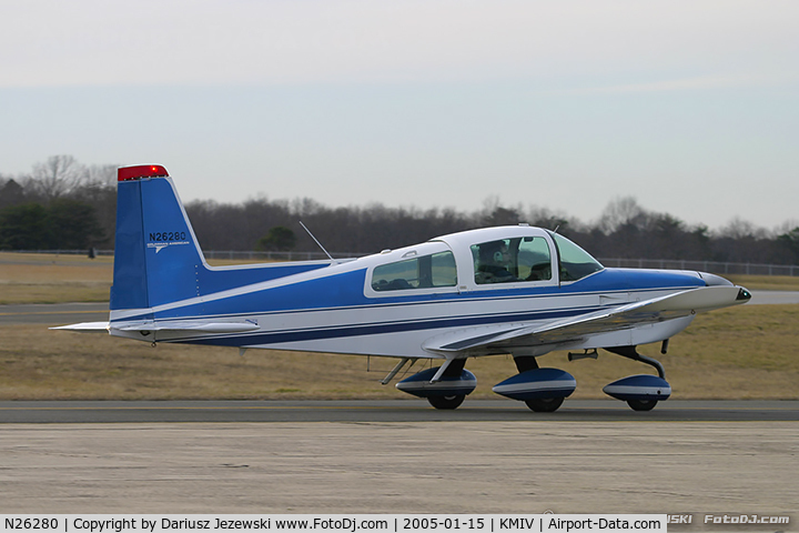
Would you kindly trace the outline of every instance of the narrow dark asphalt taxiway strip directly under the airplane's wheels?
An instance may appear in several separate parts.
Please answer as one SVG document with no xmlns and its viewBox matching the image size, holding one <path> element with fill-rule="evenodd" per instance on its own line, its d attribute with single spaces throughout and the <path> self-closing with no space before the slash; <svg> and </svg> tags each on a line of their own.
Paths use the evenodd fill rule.
<svg viewBox="0 0 799 533">
<path fill-rule="evenodd" d="M 567 400 L 555 413 L 534 413 L 512 400 L 467 400 L 441 411 L 424 400 L 0 402 L 0 423 L 185 422 L 798 422 L 799 401 L 661 402 L 635 412 L 615 400 Z"/>
</svg>

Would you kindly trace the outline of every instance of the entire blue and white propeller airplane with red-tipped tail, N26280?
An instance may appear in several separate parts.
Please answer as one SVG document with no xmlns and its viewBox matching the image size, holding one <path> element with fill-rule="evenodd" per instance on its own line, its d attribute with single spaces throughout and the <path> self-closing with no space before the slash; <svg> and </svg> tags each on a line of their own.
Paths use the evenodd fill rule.
<svg viewBox="0 0 799 533">
<path fill-rule="evenodd" d="M 396 358 L 432 368 L 400 381 L 436 409 L 455 409 L 476 378 L 469 358 L 510 354 L 516 375 L 494 392 L 533 411 L 557 410 L 576 382 L 539 368 L 597 349 L 657 371 L 604 391 L 636 411 L 669 398 L 663 365 L 636 346 L 663 343 L 697 313 L 747 302 L 715 274 L 609 269 L 568 239 L 526 224 L 452 233 L 351 260 L 210 266 L 161 165 L 119 169 L 110 320 L 65 325 L 173 342 Z M 579 351 L 583 351 L 581 353 Z M 407 370 L 406 370 L 407 372 Z"/>
</svg>

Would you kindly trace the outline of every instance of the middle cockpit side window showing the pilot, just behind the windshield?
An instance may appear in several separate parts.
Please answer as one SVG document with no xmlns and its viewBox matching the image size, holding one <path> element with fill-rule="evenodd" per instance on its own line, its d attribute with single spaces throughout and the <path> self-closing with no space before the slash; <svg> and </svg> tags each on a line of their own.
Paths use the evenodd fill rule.
<svg viewBox="0 0 799 533">
<path fill-rule="evenodd" d="M 475 283 L 552 280 L 549 245 L 542 237 L 483 242 L 472 247 Z"/>
</svg>

